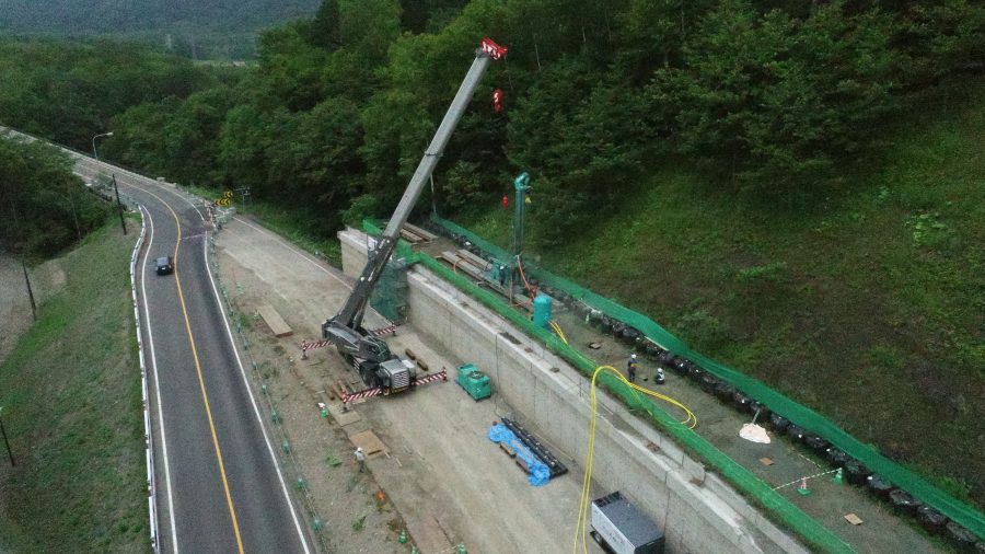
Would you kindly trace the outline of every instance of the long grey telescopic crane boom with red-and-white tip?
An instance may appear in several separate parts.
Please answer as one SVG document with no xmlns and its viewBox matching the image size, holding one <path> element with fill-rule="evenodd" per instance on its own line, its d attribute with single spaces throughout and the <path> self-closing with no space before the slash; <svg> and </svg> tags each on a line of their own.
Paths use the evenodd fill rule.
<svg viewBox="0 0 985 554">
<path fill-rule="evenodd" d="M 349 295 L 341 310 L 334 318 L 326 320 L 322 324 L 322 336 L 332 341 L 344 355 L 375 362 L 385 361 L 391 357 L 390 349 L 385 343 L 369 335 L 362 328 L 362 318 L 366 313 L 370 295 L 396 247 L 396 242 L 401 236 L 401 229 L 407 222 L 407 218 L 410 216 L 410 211 L 414 209 L 421 191 L 424 191 L 425 184 L 444 152 L 444 147 L 448 145 L 465 109 L 467 109 L 476 86 L 478 86 L 486 69 L 489 67 L 489 61 L 500 59 L 506 53 L 506 48 L 497 45 L 491 39 L 483 39 L 482 47 L 475 53 L 475 60 L 472 62 L 468 73 L 465 74 L 465 79 L 459 86 L 459 92 L 444 114 L 441 125 L 438 126 L 431 143 L 425 150 L 424 158 L 417 165 L 407 189 L 404 191 L 404 196 L 401 198 L 393 216 L 390 218 L 390 222 L 386 224 L 386 229 L 383 231 L 383 236 L 376 242 L 373 251 L 369 253 L 369 259 L 362 269 L 359 280 L 356 282 L 356 287 L 352 289 L 352 293 Z"/>
</svg>

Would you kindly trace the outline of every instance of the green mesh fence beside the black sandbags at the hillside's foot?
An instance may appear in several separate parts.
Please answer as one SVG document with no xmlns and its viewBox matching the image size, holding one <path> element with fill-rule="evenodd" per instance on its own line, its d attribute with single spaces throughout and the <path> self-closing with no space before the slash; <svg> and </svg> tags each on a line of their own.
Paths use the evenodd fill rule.
<svg viewBox="0 0 985 554">
<path fill-rule="evenodd" d="M 505 256 L 503 259 L 508 259 L 510 256 L 510 254 L 502 249 L 483 240 L 480 236 L 463 227 L 434 216 L 432 216 L 431 219 L 449 232 L 465 238 L 476 246 L 486 250 L 495 256 Z M 978 538 L 985 538 L 985 517 L 983 517 L 982 512 L 931 485 L 914 472 L 883 457 L 870 446 L 865 445 L 855 437 L 848 435 L 837 425 L 816 412 L 788 399 L 756 379 L 695 353 L 683 341 L 670 334 L 665 328 L 661 327 L 646 315 L 637 313 L 611 299 L 601 297 L 583 287 L 579 287 L 549 272 L 537 267 L 526 268 L 526 265 L 528 264 L 524 264 L 524 268 L 528 274 L 540 282 L 564 290 L 573 298 L 581 300 L 587 305 L 599 310 L 613 319 L 619 320 L 627 325 L 636 327 L 661 347 L 673 354 L 691 359 L 712 376 L 733 385 L 743 394 L 765 404 L 774 413 L 786 417 L 810 432 L 821 436 L 835 447 L 845 451 L 848 455 L 864 463 L 869 470 L 887 477 L 895 486 L 906 490 L 924 504 L 940 511 L 958 524 L 975 533 Z M 709 445 L 709 448 L 714 447 L 710 447 Z M 730 464 L 734 465 L 734 462 L 728 459 L 723 453 L 717 450 L 715 450 L 715 452 L 718 457 L 728 460 Z M 718 468 L 723 472 L 726 471 L 723 466 Z M 739 485 L 739 483 L 735 484 Z M 764 504 L 766 504 L 765 500 Z"/>
</svg>

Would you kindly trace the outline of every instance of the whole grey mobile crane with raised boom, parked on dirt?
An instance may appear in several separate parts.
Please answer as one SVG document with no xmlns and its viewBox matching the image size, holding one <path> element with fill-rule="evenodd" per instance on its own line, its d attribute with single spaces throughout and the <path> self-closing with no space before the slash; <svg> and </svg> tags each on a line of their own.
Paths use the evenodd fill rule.
<svg viewBox="0 0 985 554">
<path fill-rule="evenodd" d="M 362 327 L 362 318 L 366 314 L 370 295 L 396 247 L 401 228 L 407 222 L 410 210 L 417 203 L 431 172 L 434 171 L 434 165 L 438 164 L 449 138 L 459 125 L 459 119 L 468 107 L 472 95 L 486 73 L 490 60 L 499 60 L 506 54 L 506 47 L 496 44 L 490 38 L 483 38 L 480 48 L 476 49 L 475 60 L 472 62 L 468 73 L 465 74 L 465 79 L 459 86 L 459 92 L 449 106 L 448 113 L 444 114 L 431 143 L 425 150 L 424 158 L 417 165 L 414 176 L 410 177 L 407 189 L 404 191 L 404 196 L 390 218 L 386 229 L 383 230 L 383 236 L 376 241 L 375 247 L 369 253 L 366 267 L 363 267 L 356 287 L 341 310 L 322 324 L 322 337 L 331 341 L 346 361 L 359 371 L 359 377 L 367 386 L 380 388 L 384 394 L 415 386 L 417 372 L 413 363 L 392 354 L 386 342 L 373 336 Z"/>
</svg>

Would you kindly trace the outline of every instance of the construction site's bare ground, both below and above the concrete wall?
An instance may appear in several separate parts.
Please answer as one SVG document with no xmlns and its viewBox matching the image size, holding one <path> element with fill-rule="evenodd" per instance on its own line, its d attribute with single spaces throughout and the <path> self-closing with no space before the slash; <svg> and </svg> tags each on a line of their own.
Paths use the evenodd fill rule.
<svg viewBox="0 0 985 554">
<path fill-rule="evenodd" d="M 322 321 L 338 310 L 349 292 L 348 279 L 241 218 L 223 228 L 217 245 L 230 299 L 254 322 L 250 332 L 255 343 L 252 354 L 270 376 L 282 425 L 311 480 L 333 551 L 404 552 L 396 536 L 405 527 L 422 552 L 440 552 L 460 543 L 470 552 L 570 549 L 580 495 L 580 460 L 555 452 L 572 472 L 545 487 L 530 486 L 525 475 L 485 436 L 498 414 L 509 414 L 508 406 L 495 396 L 494 401 L 476 403 L 451 380 L 409 394 L 371 399 L 356 407 L 359 420 L 348 425 L 321 418 L 317 403 L 329 402 L 326 388 L 341 379 L 358 389 L 359 380 L 331 347 L 312 350 L 309 360 L 301 360 L 299 344 L 302 338 L 320 337 Z M 265 303 L 280 313 L 293 328 L 293 336 L 275 338 L 253 315 Z M 580 348 L 601 344 L 591 350 L 599 362 L 625 367 L 629 354 L 625 345 L 564 310 L 556 320 Z M 383 323 L 370 316 L 367 327 Z M 410 327 L 401 327 L 389 342 L 394 351 L 409 347 L 432 370 L 453 370 L 468 361 L 451 359 Z M 651 386 L 654 369 L 652 362 L 642 360 L 641 384 Z M 667 384 L 657 390 L 690 406 L 698 417 L 697 431 L 766 483 L 779 486 L 830 470 L 806 449 L 772 432 L 770 445 L 741 439 L 739 429 L 750 416 L 671 371 L 667 371 Z M 369 459 L 372 476 L 356 473 L 355 447 L 349 440 L 364 430 L 372 430 L 386 447 L 385 453 Z M 326 464 L 328 455 L 341 460 L 343 465 Z M 763 464 L 763 458 L 773 463 Z M 835 484 L 832 477 L 827 474 L 809 480 L 811 494 L 807 496 L 797 492 L 797 485 L 780 492 L 859 552 L 947 551 L 941 541 L 899 518 L 889 506 L 847 481 Z M 376 509 L 374 495 L 380 489 L 395 511 Z M 862 523 L 849 523 L 845 519 L 849 513 Z M 355 530 L 358 526 L 354 522 L 363 516 L 361 530 Z"/>
</svg>

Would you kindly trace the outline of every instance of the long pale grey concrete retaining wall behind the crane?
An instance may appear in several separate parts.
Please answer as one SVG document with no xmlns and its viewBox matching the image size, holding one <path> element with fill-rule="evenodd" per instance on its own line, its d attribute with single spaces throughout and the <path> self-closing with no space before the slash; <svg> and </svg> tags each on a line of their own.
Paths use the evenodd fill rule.
<svg viewBox="0 0 985 554">
<path fill-rule="evenodd" d="M 358 276 L 366 236 L 347 230 L 339 239 L 343 269 Z M 559 450 L 555 454 L 566 463 L 581 463 L 591 416 L 588 380 L 426 268 L 415 266 L 407 279 L 410 325 L 482 368 L 517 419 Z M 602 489 L 622 490 L 649 515 L 664 530 L 669 553 L 808 552 L 621 403 L 601 393 L 598 404 L 592 476 Z"/>
</svg>

